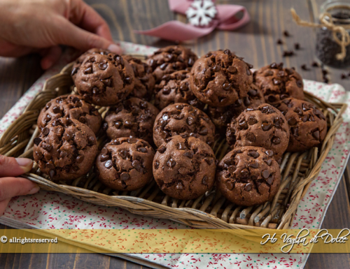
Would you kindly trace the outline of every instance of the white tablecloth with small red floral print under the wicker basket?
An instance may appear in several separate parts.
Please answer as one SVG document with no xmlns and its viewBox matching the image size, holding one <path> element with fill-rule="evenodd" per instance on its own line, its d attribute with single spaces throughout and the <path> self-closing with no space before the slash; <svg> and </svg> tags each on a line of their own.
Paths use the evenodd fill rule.
<svg viewBox="0 0 350 269">
<path fill-rule="evenodd" d="M 132 43 L 120 43 L 120 45 L 125 53 L 151 54 L 155 50 Z M 20 116 L 35 94 L 41 91 L 45 80 L 58 73 L 71 61 L 71 55 L 72 52 L 67 50 L 59 63 L 47 71 L 1 119 L 0 136 L 10 123 Z M 310 80 L 304 80 L 304 84 L 308 92 L 325 101 L 346 102 L 350 106 L 350 92 L 346 92 L 341 85 L 325 85 Z M 293 228 L 321 227 L 325 212 L 349 159 L 350 108 L 346 110 L 344 119 L 332 150 L 323 163 L 321 173 L 312 182 L 304 199 L 298 205 Z M 167 219 L 141 217 L 121 208 L 92 205 L 71 196 L 43 190 L 31 196 L 13 198 L 0 222 L 15 228 L 188 228 Z M 125 259 L 144 263 L 150 267 L 181 269 L 303 268 L 307 256 L 307 254 L 123 254 Z"/>
</svg>

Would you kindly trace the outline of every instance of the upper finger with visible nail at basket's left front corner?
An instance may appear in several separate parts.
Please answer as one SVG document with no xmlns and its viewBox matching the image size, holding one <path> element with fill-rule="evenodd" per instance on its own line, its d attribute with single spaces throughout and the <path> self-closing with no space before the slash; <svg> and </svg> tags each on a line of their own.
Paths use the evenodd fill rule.
<svg viewBox="0 0 350 269">
<path fill-rule="evenodd" d="M 0 177 L 17 177 L 31 170 L 33 161 L 0 155 Z"/>
</svg>

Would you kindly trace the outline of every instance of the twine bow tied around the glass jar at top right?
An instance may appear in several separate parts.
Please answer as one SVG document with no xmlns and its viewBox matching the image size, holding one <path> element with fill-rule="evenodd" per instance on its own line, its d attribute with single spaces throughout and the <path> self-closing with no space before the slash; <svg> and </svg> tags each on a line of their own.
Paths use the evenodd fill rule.
<svg viewBox="0 0 350 269">
<path fill-rule="evenodd" d="M 334 24 L 332 20 L 332 15 L 330 15 L 329 13 L 322 13 L 319 17 L 321 24 L 317 24 L 313 22 L 306 22 L 300 19 L 300 17 L 295 12 L 294 8 L 292 8 L 290 12 L 292 13 L 293 20 L 296 22 L 296 24 L 300 26 L 316 28 L 327 27 L 328 30 L 332 31 L 335 42 L 337 42 L 340 48 L 342 48 L 342 51 L 336 55 L 337 59 L 342 60 L 346 57 L 346 46 L 350 45 L 349 32 L 346 31 L 346 29 L 350 29 L 349 25 L 339 26 Z M 339 39 L 337 34 L 340 34 L 342 38 Z"/>
</svg>

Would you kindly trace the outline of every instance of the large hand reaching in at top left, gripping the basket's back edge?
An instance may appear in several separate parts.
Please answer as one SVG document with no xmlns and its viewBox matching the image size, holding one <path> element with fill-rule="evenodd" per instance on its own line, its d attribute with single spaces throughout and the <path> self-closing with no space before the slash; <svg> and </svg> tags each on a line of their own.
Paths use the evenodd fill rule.
<svg viewBox="0 0 350 269">
<path fill-rule="evenodd" d="M 38 52 L 43 69 L 59 59 L 59 45 L 121 53 L 108 24 L 83 0 L 1 0 L 0 25 L 0 56 Z"/>
</svg>

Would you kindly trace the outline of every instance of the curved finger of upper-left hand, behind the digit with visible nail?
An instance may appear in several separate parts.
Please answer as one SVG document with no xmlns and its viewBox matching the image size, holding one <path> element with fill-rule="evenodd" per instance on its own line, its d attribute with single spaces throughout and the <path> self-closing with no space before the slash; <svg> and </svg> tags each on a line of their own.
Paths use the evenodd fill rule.
<svg viewBox="0 0 350 269">
<path fill-rule="evenodd" d="M 109 25 L 91 6 L 81 0 L 71 1 L 69 20 L 78 27 L 113 42 Z"/>
</svg>

